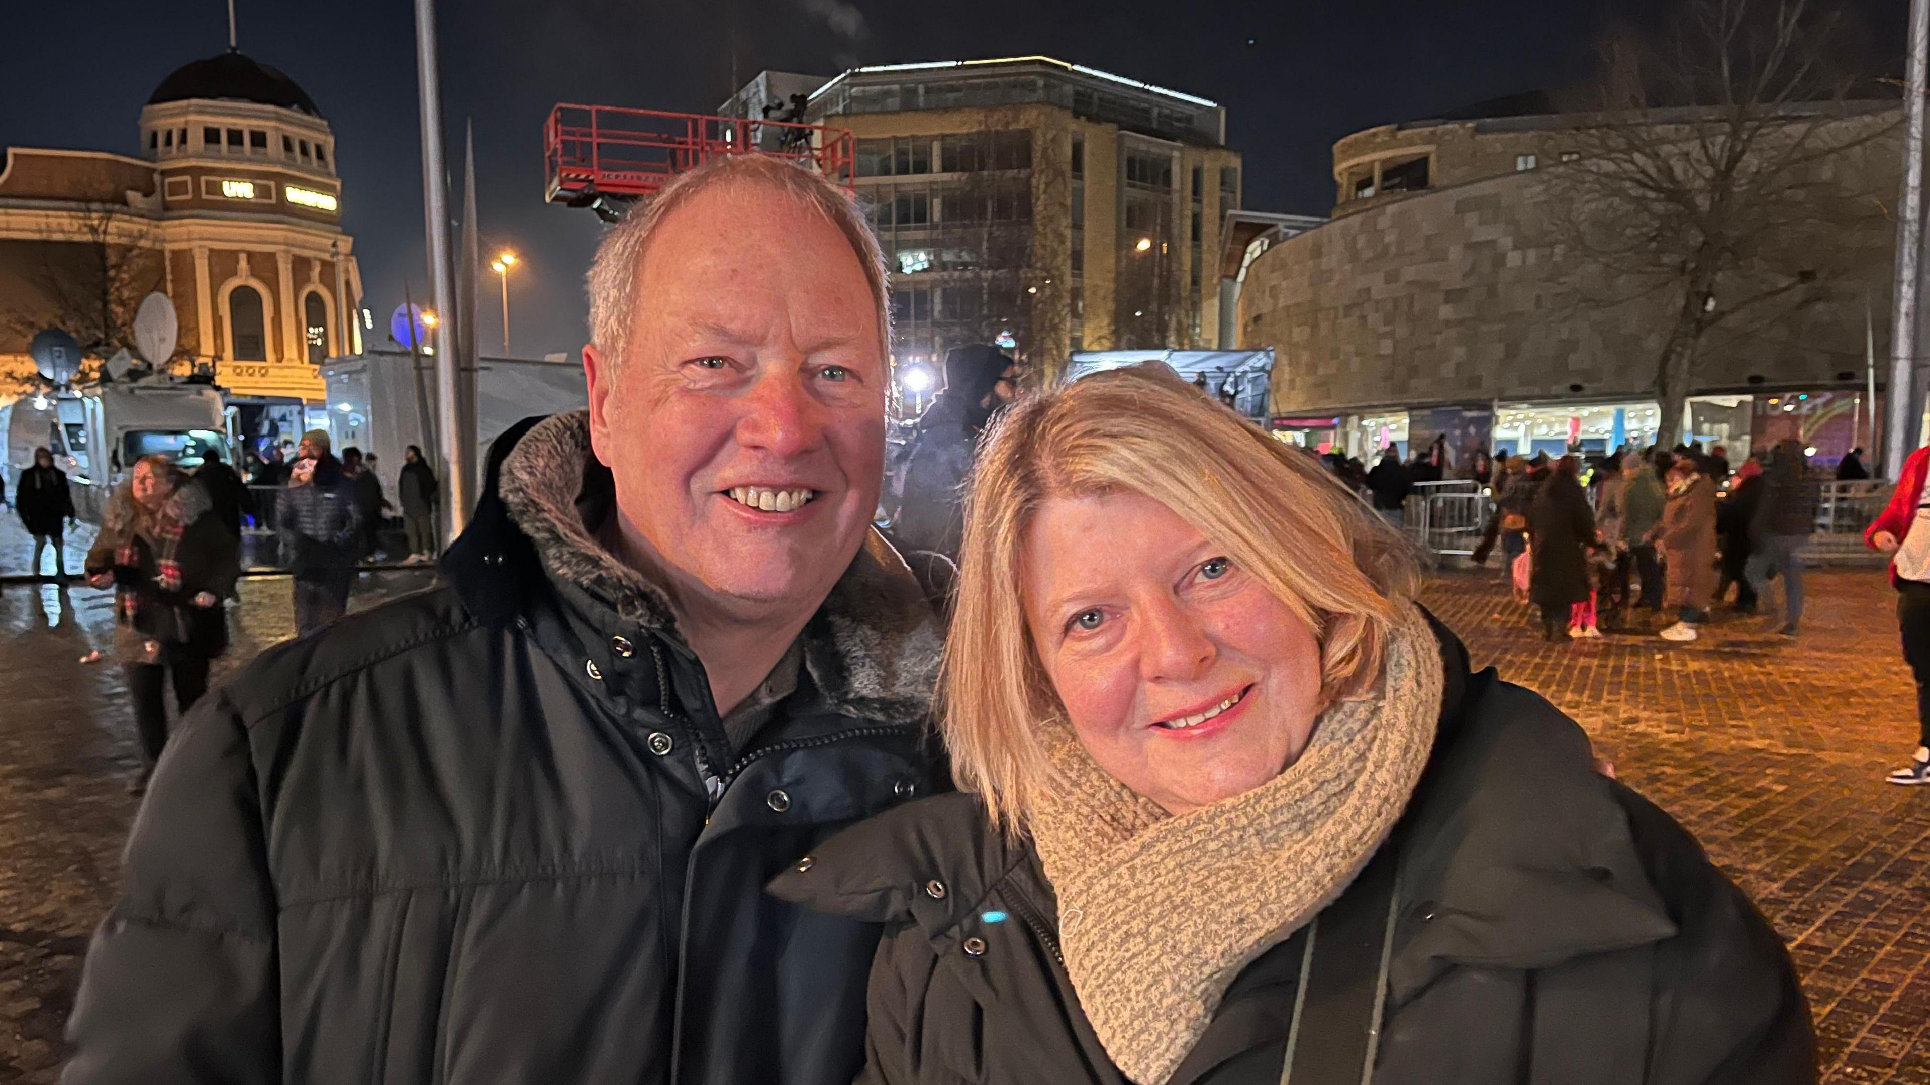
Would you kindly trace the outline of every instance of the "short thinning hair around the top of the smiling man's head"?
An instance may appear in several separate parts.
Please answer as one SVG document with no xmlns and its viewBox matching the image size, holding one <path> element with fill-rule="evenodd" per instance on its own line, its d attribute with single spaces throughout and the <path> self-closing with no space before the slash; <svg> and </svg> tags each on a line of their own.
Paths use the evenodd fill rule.
<svg viewBox="0 0 1930 1085">
<path fill-rule="evenodd" d="M 892 351 L 892 295 L 886 280 L 884 251 L 870 222 L 859 210 L 849 191 L 822 174 L 795 166 L 770 154 L 720 154 L 664 185 L 648 203 L 639 203 L 596 245 L 587 276 L 591 295 L 591 346 L 610 363 L 621 365 L 631 348 L 629 336 L 637 324 L 637 280 L 650 237 L 679 205 L 701 191 L 718 185 L 762 185 L 776 199 L 795 201 L 830 220 L 851 241 L 857 263 L 865 268 L 870 299 L 878 307 L 878 349 Z"/>
</svg>

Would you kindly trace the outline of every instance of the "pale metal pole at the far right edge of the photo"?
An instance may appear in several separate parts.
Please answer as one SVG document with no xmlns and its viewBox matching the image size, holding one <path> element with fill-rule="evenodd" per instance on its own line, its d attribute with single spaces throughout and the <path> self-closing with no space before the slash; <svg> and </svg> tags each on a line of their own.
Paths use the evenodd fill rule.
<svg viewBox="0 0 1930 1085">
<path fill-rule="evenodd" d="M 1889 432 L 1884 434 L 1884 477 L 1901 479 L 1922 429 L 1911 417 L 1916 371 L 1916 309 L 1922 303 L 1924 230 L 1924 66 L 1930 60 L 1930 0 L 1911 0 L 1911 64 L 1903 85 L 1903 199 L 1897 201 L 1897 303 L 1889 315 Z"/>
</svg>

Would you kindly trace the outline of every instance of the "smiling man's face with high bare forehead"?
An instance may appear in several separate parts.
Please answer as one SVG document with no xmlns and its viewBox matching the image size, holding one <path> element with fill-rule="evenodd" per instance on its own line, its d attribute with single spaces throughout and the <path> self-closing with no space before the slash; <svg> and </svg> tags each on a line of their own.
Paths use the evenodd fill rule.
<svg viewBox="0 0 1930 1085">
<path fill-rule="evenodd" d="M 627 357 L 583 349 L 625 541 L 677 606 L 816 608 L 884 471 L 884 344 L 851 243 L 764 185 L 699 193 L 643 259 Z"/>
</svg>

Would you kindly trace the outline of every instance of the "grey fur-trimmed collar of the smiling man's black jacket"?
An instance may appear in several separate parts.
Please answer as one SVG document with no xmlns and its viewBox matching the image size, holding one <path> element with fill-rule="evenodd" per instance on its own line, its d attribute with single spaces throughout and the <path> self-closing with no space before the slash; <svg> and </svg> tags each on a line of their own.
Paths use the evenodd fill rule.
<svg viewBox="0 0 1930 1085">
<path fill-rule="evenodd" d="M 444 573 L 484 622 L 513 622 L 535 593 L 567 595 L 683 645 L 664 593 L 596 542 L 616 508 L 591 452 L 589 411 L 523 419 L 490 448 L 482 500 Z M 567 585 L 567 593 L 556 589 Z M 880 722 L 926 718 L 942 631 L 903 558 L 872 531 L 805 626 L 805 668 L 834 710 Z"/>
</svg>

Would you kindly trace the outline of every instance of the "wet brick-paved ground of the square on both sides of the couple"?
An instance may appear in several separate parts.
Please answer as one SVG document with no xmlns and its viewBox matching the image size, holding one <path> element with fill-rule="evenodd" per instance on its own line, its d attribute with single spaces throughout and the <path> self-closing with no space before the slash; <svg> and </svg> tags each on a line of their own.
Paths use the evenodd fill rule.
<svg viewBox="0 0 1930 1085">
<path fill-rule="evenodd" d="M 0 571 L 25 566 L 19 544 L 0 523 Z M 351 606 L 423 583 L 365 575 Z M 1793 643 L 1756 618 L 1696 645 L 1548 645 L 1492 575 L 1436 577 L 1428 602 L 1476 666 L 1575 714 L 1762 904 L 1805 975 L 1828 1081 L 1930 1085 L 1930 788 L 1878 780 L 1915 736 L 1882 573 L 1812 573 Z M 290 583 L 243 581 L 232 614 L 216 680 L 290 635 Z M 54 1081 L 87 934 L 118 884 L 127 691 L 118 668 L 75 662 L 110 622 L 106 593 L 0 587 L 0 1083 Z"/>
</svg>

